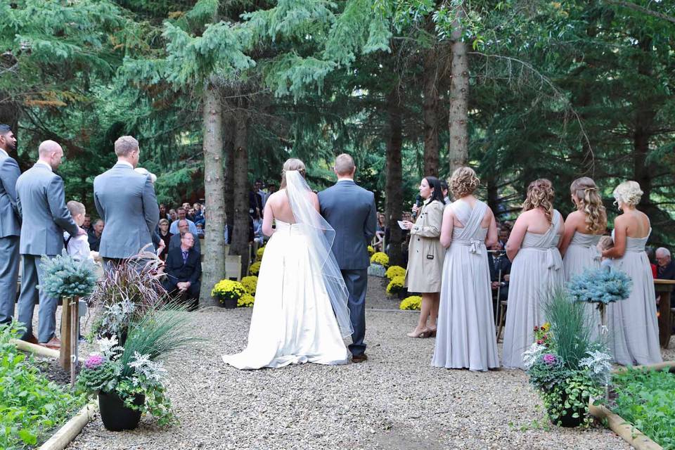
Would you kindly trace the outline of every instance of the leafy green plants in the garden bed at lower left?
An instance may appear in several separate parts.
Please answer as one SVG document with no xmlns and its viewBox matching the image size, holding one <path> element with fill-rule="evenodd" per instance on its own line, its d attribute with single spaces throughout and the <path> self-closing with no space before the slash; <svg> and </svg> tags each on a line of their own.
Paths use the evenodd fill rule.
<svg viewBox="0 0 675 450">
<path fill-rule="evenodd" d="M 85 398 L 47 380 L 12 340 L 21 328 L 0 326 L 0 449 L 30 449 L 82 408 Z"/>
</svg>

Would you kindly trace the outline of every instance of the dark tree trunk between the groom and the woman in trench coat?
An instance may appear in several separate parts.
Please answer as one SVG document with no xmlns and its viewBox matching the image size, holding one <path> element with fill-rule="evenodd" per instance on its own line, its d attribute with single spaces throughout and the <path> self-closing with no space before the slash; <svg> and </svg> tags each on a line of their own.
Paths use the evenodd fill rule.
<svg viewBox="0 0 675 450">
<path fill-rule="evenodd" d="M 399 94 L 394 90 L 387 97 L 387 126 L 385 139 L 387 141 L 387 184 L 385 186 L 385 210 L 387 226 L 390 230 L 389 257 L 390 264 L 401 265 L 403 253 L 403 233 L 397 221 L 403 214 L 403 175 L 401 168 L 401 146 L 403 145 L 403 130 L 401 124 L 401 105 Z"/>
</svg>

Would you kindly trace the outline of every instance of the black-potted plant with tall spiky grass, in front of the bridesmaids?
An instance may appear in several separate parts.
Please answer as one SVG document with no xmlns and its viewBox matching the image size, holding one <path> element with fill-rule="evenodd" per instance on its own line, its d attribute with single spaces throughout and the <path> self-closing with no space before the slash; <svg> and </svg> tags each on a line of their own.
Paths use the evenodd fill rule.
<svg viewBox="0 0 675 450">
<path fill-rule="evenodd" d="M 611 357 L 592 342 L 583 305 L 567 293 L 544 301 L 550 323 L 535 327 L 535 342 L 523 353 L 529 383 L 541 394 L 551 422 L 588 426 L 589 401 L 602 396 L 610 380 Z"/>
</svg>

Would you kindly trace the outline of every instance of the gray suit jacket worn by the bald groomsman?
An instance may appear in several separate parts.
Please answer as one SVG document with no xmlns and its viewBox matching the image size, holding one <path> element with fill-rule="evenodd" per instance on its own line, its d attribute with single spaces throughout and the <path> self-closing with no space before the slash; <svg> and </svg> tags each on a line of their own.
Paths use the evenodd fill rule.
<svg viewBox="0 0 675 450">
<path fill-rule="evenodd" d="M 60 255 L 63 231 L 72 236 L 79 228 L 65 207 L 63 180 L 48 167 L 36 164 L 16 181 L 17 207 L 23 217 L 21 255 Z"/>
</svg>

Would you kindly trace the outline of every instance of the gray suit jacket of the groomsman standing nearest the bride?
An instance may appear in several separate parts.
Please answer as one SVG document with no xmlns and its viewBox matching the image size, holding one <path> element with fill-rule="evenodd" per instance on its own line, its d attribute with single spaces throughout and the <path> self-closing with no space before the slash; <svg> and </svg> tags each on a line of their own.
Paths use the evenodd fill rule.
<svg viewBox="0 0 675 450">
<path fill-rule="evenodd" d="M 117 163 L 94 179 L 94 203 L 105 222 L 101 247 L 105 258 L 128 258 L 150 244 L 160 220 L 160 208 L 150 176 Z"/>
</svg>

